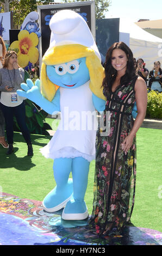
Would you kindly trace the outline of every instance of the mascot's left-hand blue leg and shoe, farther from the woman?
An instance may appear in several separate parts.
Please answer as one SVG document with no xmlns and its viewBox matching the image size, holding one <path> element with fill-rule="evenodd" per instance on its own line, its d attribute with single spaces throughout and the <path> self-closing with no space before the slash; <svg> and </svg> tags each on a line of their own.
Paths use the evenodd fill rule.
<svg viewBox="0 0 162 256">
<path fill-rule="evenodd" d="M 56 186 L 43 199 L 43 209 L 48 212 L 58 211 L 63 208 L 73 193 L 72 179 L 68 176 L 72 170 L 72 159 L 55 159 L 53 163 L 53 172 Z"/>
</svg>

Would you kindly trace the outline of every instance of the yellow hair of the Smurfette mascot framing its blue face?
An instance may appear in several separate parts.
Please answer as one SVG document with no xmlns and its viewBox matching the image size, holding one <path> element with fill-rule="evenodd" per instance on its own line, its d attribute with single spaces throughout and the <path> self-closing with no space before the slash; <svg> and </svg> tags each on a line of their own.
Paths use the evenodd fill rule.
<svg viewBox="0 0 162 256">
<path fill-rule="evenodd" d="M 104 78 L 104 68 L 94 50 L 78 44 L 55 46 L 47 50 L 43 56 L 41 67 L 41 93 L 47 100 L 53 100 L 59 86 L 49 80 L 46 73 L 46 66 L 63 64 L 83 57 L 86 57 L 86 66 L 89 69 L 91 91 L 99 98 L 105 100 L 103 88 L 101 88 Z"/>
</svg>

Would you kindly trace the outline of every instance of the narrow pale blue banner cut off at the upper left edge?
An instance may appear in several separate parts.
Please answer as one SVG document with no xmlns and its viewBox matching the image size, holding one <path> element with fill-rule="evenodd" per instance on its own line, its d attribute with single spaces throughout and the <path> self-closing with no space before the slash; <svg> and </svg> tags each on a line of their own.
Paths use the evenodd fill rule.
<svg viewBox="0 0 162 256">
<path fill-rule="evenodd" d="M 10 40 L 9 29 L 11 29 L 11 12 L 0 13 L 0 35 L 4 41 Z"/>
</svg>

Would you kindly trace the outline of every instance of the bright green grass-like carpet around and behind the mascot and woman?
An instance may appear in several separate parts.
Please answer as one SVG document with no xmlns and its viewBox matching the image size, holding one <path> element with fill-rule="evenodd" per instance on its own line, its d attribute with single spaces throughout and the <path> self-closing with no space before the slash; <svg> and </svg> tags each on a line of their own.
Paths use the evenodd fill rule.
<svg viewBox="0 0 162 256">
<path fill-rule="evenodd" d="M 46 119 L 52 125 L 52 119 Z M 52 127 L 57 129 L 59 121 Z M 21 198 L 43 200 L 53 189 L 53 160 L 43 157 L 39 149 L 51 136 L 31 135 L 34 156 L 27 156 L 27 145 L 20 133 L 14 133 L 15 154 L 7 156 L 0 147 L 0 191 Z M 162 231 L 161 227 L 161 130 L 140 128 L 137 133 L 137 170 L 135 206 L 131 218 L 136 227 Z M 92 211 L 95 161 L 90 164 L 85 201 Z M 162 190 L 162 188 L 161 188 Z"/>
</svg>

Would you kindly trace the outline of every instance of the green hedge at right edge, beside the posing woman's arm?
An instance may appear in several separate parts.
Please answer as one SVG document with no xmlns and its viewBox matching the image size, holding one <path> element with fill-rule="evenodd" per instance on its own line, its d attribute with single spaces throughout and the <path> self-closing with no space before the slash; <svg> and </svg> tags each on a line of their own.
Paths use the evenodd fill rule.
<svg viewBox="0 0 162 256">
<path fill-rule="evenodd" d="M 146 118 L 162 119 L 162 93 L 154 90 L 148 93 Z"/>
</svg>

